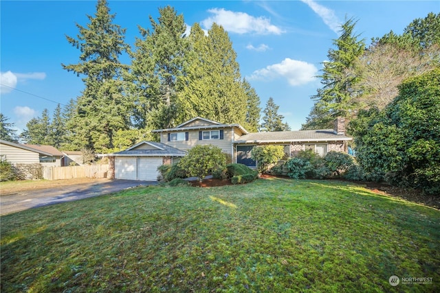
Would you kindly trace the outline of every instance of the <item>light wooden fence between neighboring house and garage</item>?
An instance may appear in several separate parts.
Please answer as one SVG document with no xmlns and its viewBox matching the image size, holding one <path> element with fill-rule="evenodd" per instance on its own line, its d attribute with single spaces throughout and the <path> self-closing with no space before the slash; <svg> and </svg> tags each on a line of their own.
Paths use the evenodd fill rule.
<svg viewBox="0 0 440 293">
<path fill-rule="evenodd" d="M 47 180 L 72 178 L 107 178 L 109 165 L 83 165 L 70 167 L 43 167 L 43 178 Z"/>
</svg>

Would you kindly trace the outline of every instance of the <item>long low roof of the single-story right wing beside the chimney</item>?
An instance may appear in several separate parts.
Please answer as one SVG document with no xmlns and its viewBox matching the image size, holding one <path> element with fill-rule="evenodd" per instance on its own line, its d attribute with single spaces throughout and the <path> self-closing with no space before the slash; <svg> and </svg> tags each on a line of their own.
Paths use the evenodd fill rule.
<svg viewBox="0 0 440 293">
<path fill-rule="evenodd" d="M 276 143 L 305 141 L 351 141 L 351 137 L 335 134 L 333 129 L 254 132 L 245 134 L 234 143 Z"/>
</svg>

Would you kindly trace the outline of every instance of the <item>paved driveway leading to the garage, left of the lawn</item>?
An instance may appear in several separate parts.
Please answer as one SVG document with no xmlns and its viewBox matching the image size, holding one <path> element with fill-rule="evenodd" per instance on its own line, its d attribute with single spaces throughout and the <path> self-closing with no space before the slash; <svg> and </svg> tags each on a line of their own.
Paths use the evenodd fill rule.
<svg viewBox="0 0 440 293">
<path fill-rule="evenodd" d="M 137 180 L 109 180 L 104 183 L 88 183 L 81 185 L 69 185 L 35 191 L 23 191 L 8 196 L 0 196 L 0 215 L 15 213 L 34 207 L 43 207 L 49 204 L 69 202 L 103 194 L 111 194 L 116 191 L 137 187 L 157 185 L 155 181 Z"/>
</svg>

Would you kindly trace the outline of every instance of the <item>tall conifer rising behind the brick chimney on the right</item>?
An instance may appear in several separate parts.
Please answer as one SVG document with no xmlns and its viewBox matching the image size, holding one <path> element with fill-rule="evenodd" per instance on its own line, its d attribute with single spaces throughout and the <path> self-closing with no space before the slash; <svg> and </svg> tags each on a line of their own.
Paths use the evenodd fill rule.
<svg viewBox="0 0 440 293">
<path fill-rule="evenodd" d="M 364 40 L 358 40 L 354 28 L 356 22 L 353 19 L 347 20 L 342 25 L 341 35 L 333 40 L 336 49 L 329 49 L 328 62 L 324 62 L 322 69 L 321 83 L 322 89 L 312 97 L 316 99 L 314 106 L 315 113 L 320 113 L 314 121 L 309 117 L 310 123 L 318 128 L 327 128 L 329 121 L 338 116 L 351 117 L 357 105 L 353 103 L 353 85 L 359 82 L 360 77 L 353 75 L 353 67 L 359 56 L 362 56 L 365 49 Z M 308 126 L 303 126 L 308 128 Z"/>
</svg>

